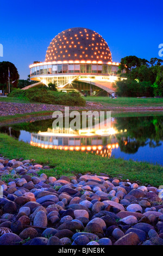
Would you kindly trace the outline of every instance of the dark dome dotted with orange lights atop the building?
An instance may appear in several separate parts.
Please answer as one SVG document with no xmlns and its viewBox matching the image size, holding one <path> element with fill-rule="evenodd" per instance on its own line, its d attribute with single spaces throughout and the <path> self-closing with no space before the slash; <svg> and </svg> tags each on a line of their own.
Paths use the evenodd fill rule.
<svg viewBox="0 0 163 256">
<path fill-rule="evenodd" d="M 111 62 L 112 58 L 101 35 L 87 28 L 70 28 L 56 35 L 46 52 L 46 62 L 64 60 Z"/>
</svg>

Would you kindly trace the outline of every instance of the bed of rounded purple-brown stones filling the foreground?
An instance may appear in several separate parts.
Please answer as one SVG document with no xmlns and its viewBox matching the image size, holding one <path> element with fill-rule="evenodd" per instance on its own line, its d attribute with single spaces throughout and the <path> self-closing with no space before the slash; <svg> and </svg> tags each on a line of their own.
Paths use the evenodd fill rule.
<svg viewBox="0 0 163 256">
<path fill-rule="evenodd" d="M 0 245 L 163 245 L 158 188 L 46 169 L 0 157 Z"/>
</svg>

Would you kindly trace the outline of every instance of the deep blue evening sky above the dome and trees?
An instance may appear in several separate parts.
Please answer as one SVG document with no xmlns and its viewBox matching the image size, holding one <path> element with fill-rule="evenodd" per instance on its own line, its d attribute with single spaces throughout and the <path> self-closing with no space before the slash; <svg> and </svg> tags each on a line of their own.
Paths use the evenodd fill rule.
<svg viewBox="0 0 163 256">
<path fill-rule="evenodd" d="M 108 42 L 112 60 L 136 55 L 150 60 L 163 43 L 162 0 L 60 0 L 0 3 L 0 62 L 15 64 L 21 79 L 29 65 L 45 60 L 55 35 L 72 27 L 98 32 Z"/>
</svg>

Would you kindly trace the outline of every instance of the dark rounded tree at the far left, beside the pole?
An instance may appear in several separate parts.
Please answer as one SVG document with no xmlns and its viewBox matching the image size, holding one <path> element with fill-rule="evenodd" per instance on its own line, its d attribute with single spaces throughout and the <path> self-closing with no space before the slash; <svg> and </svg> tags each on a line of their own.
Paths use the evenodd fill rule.
<svg viewBox="0 0 163 256">
<path fill-rule="evenodd" d="M 8 79 L 10 70 L 10 84 L 12 87 L 17 88 L 19 74 L 16 66 L 11 62 L 0 62 L 0 83 L 5 85 L 5 89 L 8 91 Z"/>
</svg>

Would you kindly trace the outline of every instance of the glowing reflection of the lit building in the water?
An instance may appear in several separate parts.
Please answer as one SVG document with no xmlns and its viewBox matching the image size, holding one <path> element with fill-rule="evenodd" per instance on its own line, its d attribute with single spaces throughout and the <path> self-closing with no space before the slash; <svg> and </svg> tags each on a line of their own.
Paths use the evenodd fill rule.
<svg viewBox="0 0 163 256">
<path fill-rule="evenodd" d="M 30 144 L 45 149 L 85 151 L 110 157 L 111 150 L 119 147 L 116 133 L 113 128 L 108 131 L 48 128 L 47 132 L 32 133 Z"/>
</svg>

